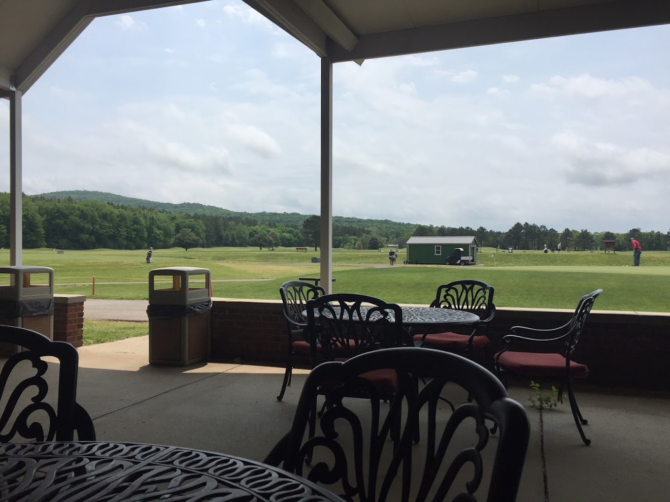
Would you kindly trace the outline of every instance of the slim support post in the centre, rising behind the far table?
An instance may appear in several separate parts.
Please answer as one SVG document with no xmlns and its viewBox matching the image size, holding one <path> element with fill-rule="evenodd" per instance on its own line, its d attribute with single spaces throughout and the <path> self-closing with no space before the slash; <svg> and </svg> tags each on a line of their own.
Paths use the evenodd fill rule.
<svg viewBox="0 0 670 502">
<path fill-rule="evenodd" d="M 321 58 L 321 285 L 332 292 L 333 65 Z"/>
</svg>

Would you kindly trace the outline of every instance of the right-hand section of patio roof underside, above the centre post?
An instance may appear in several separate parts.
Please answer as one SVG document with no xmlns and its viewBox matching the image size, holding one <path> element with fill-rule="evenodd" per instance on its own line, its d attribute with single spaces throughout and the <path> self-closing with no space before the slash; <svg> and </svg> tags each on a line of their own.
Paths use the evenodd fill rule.
<svg viewBox="0 0 670 502">
<path fill-rule="evenodd" d="M 670 23 L 669 0 L 244 0 L 332 62 Z"/>
</svg>

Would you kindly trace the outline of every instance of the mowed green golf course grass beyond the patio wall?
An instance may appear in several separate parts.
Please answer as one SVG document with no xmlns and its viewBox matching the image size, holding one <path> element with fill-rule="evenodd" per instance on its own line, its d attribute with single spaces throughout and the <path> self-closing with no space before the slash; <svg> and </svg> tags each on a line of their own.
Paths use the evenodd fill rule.
<svg viewBox="0 0 670 502">
<path fill-rule="evenodd" d="M 334 292 L 360 292 L 397 303 L 426 305 L 442 282 L 474 278 L 495 287 L 498 307 L 573 309 L 587 292 L 603 288 L 598 310 L 667 312 L 670 252 L 515 252 L 484 248 L 477 266 L 388 265 L 388 250 L 334 250 Z M 257 248 L 155 250 L 151 264 L 143 250 L 24 250 L 23 263 L 54 268 L 56 293 L 103 299 L 148 299 L 153 268 L 197 266 L 212 272 L 214 297 L 279 299 L 279 285 L 299 276 L 319 276 L 318 252 Z M 9 252 L 4 258 L 9 264 Z M 401 250 L 399 262 L 405 259 Z M 3 277 L 4 276 L 4 277 Z M 95 276 L 95 294 L 92 277 Z M 7 274 L 0 274 L 6 283 Z"/>
</svg>

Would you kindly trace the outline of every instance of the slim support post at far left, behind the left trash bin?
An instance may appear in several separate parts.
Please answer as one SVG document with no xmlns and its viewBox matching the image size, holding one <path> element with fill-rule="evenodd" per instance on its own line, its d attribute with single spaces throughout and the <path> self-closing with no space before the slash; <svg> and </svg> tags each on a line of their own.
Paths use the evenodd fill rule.
<svg viewBox="0 0 670 502">
<path fill-rule="evenodd" d="M 21 91 L 9 91 L 9 264 L 23 258 L 23 169 L 21 164 Z"/>
</svg>

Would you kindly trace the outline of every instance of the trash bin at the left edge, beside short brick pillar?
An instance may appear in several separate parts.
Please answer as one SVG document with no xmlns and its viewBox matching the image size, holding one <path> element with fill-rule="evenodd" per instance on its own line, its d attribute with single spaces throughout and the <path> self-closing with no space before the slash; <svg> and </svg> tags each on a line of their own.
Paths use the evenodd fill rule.
<svg viewBox="0 0 670 502">
<path fill-rule="evenodd" d="M 0 267 L 0 324 L 38 331 L 54 339 L 54 269 L 46 266 Z M 0 352 L 16 353 L 2 344 Z"/>
</svg>

